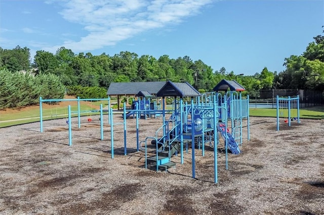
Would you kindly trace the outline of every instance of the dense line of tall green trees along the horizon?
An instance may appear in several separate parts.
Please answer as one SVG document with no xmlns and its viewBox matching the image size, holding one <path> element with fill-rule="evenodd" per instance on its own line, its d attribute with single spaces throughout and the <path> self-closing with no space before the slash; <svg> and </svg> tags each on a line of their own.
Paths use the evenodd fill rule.
<svg viewBox="0 0 324 215">
<path fill-rule="evenodd" d="M 94 56 L 91 52 L 75 54 L 71 49 L 60 47 L 56 53 L 36 51 L 30 62 L 29 48 L 0 47 L 0 69 L 31 71 L 56 75 L 64 86 L 103 87 L 111 82 L 137 81 L 187 81 L 200 92 L 211 91 L 222 80 L 237 80 L 253 93 L 260 89 L 324 89 L 324 36 L 313 37 L 300 56 L 284 59 L 286 69 L 281 72 L 256 71 L 254 75 L 236 75 L 234 71 L 211 68 L 201 60 L 193 61 L 184 56 L 171 59 L 168 55 L 158 59 L 150 55 L 138 56 L 134 52 L 120 51 L 114 56 Z"/>
</svg>

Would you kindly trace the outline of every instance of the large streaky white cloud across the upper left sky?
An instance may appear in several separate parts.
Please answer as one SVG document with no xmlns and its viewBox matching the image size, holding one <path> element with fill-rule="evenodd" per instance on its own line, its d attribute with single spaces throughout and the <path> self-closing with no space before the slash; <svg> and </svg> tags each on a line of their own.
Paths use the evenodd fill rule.
<svg viewBox="0 0 324 215">
<path fill-rule="evenodd" d="M 81 24 L 88 35 L 78 41 L 46 47 L 55 51 L 61 46 L 73 51 L 89 51 L 115 45 L 149 29 L 163 28 L 182 22 L 185 18 L 199 14 L 212 0 L 126 0 L 92 1 L 78 0 L 55 2 L 62 4 L 59 13 L 65 20 Z M 47 4 L 53 4 L 47 1 Z"/>
</svg>

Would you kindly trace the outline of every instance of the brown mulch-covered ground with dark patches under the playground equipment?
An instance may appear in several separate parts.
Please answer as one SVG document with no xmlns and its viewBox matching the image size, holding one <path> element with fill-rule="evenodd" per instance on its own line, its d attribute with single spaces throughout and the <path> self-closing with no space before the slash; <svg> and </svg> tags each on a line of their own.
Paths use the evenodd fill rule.
<svg viewBox="0 0 324 215">
<path fill-rule="evenodd" d="M 140 140 L 161 124 L 140 120 Z M 73 119 L 72 146 L 65 119 L 45 121 L 43 133 L 39 123 L 1 128 L 0 214 L 324 214 L 324 121 L 282 122 L 280 131 L 274 118 L 250 124 L 251 140 L 244 127 L 242 153 L 229 154 L 228 170 L 218 153 L 218 184 L 209 146 L 204 157 L 195 150 L 196 179 L 190 148 L 184 164 L 172 157 L 175 169 L 146 170 L 135 119 L 127 120 L 128 155 L 123 125 L 114 126 L 113 159 L 110 126 L 100 140 L 95 116 L 80 129 Z"/>
</svg>

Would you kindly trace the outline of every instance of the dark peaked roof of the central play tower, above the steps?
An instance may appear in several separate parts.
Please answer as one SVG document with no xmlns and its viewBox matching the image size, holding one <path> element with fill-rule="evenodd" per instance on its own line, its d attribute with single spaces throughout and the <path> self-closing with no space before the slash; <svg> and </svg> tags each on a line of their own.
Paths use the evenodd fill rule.
<svg viewBox="0 0 324 215">
<path fill-rule="evenodd" d="M 157 93 L 156 97 L 178 96 L 178 97 L 193 97 L 199 96 L 200 93 L 193 88 L 188 82 L 173 83 L 168 81 Z"/>
</svg>

